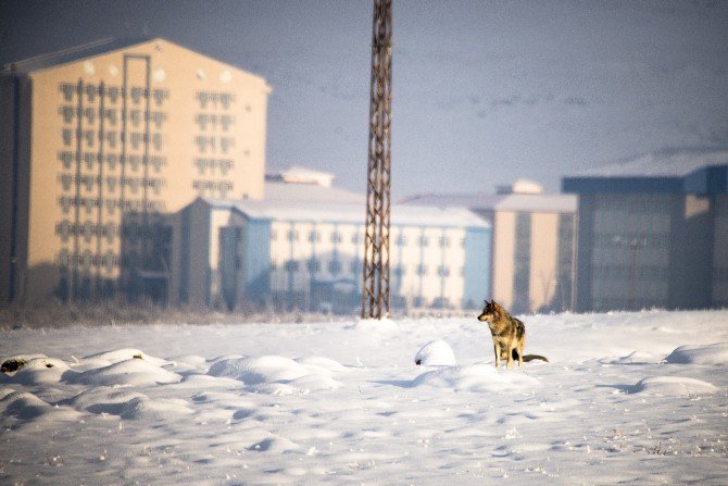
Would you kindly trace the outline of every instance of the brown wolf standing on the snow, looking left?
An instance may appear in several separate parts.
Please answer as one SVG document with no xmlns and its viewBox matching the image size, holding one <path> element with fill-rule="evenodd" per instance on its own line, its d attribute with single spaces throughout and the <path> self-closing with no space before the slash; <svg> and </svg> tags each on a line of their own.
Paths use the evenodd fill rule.
<svg viewBox="0 0 728 486">
<path fill-rule="evenodd" d="M 494 300 L 490 302 L 486 300 L 486 307 L 478 315 L 478 321 L 487 322 L 488 327 L 490 327 L 493 350 L 495 351 L 495 367 L 501 366 L 501 360 L 506 360 L 505 367 L 513 367 L 514 360 L 518 360 L 518 367 L 524 364 L 524 361 L 543 360 L 549 362 L 545 357 L 539 354 L 524 356 L 526 326 L 522 321 L 509 314 Z"/>
</svg>

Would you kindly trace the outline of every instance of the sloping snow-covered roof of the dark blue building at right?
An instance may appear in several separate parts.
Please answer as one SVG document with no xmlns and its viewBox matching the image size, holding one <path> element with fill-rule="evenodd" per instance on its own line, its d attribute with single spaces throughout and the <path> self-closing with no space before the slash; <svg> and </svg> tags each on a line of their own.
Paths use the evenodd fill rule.
<svg viewBox="0 0 728 486">
<path fill-rule="evenodd" d="M 701 169 L 728 166 L 728 148 L 663 149 L 575 174 L 577 177 L 685 177 Z"/>
</svg>

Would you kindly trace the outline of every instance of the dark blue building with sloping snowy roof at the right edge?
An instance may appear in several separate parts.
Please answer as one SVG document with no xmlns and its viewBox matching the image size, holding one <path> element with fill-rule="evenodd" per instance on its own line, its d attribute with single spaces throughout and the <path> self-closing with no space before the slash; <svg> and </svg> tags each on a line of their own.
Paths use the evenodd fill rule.
<svg viewBox="0 0 728 486">
<path fill-rule="evenodd" d="M 579 311 L 728 306 L 728 150 L 667 149 L 565 177 Z"/>
</svg>

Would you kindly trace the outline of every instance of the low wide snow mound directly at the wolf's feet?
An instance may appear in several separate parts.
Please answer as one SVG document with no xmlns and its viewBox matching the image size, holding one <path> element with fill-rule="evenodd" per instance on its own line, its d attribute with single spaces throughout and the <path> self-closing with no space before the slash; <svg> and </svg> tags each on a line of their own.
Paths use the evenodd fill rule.
<svg viewBox="0 0 728 486">
<path fill-rule="evenodd" d="M 423 373 L 412 382 L 415 387 L 423 385 L 453 391 L 527 391 L 540 382 L 517 370 L 499 372 L 491 364 L 469 364 Z"/>
</svg>

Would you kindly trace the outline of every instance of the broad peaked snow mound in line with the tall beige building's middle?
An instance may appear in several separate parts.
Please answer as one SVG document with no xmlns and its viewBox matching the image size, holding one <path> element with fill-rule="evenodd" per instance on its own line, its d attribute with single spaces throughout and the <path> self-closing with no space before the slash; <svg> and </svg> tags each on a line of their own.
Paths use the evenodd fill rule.
<svg viewBox="0 0 728 486">
<path fill-rule="evenodd" d="M 133 358 L 127 361 L 92 369 L 73 376 L 71 383 L 96 386 L 150 386 L 177 383 L 181 376 L 164 370 L 145 359 Z"/>
</svg>

